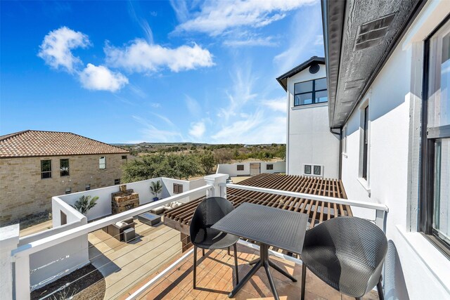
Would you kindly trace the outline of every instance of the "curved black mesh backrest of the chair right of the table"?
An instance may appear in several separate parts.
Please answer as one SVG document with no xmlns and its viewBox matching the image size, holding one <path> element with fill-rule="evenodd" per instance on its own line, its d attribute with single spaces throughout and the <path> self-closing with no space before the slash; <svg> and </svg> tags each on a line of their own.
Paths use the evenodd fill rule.
<svg viewBox="0 0 450 300">
<path fill-rule="evenodd" d="M 347 265 L 364 270 L 364 278 L 359 273 L 359 278 L 352 278 L 351 281 L 367 282 L 366 292 L 375 287 L 380 279 L 387 253 L 387 239 L 383 230 L 374 223 L 356 217 L 340 216 L 308 230 L 306 241 L 305 247 L 310 243 L 332 247 L 342 268 Z M 350 279 L 354 274 L 349 270 L 342 270 L 341 279 L 344 280 L 345 276 Z M 358 289 L 356 286 L 354 291 L 352 287 L 347 288 L 350 290 L 342 292 L 353 294 Z"/>
</svg>

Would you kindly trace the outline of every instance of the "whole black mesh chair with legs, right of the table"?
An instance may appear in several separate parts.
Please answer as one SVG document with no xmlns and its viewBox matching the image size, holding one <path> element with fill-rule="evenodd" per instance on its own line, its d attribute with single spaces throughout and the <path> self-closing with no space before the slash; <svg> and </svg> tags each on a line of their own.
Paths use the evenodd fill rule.
<svg viewBox="0 0 450 300">
<path fill-rule="evenodd" d="M 342 294 L 360 299 L 376 285 L 384 299 L 381 270 L 386 253 L 383 230 L 364 219 L 341 216 L 311 228 L 302 251 L 302 299 L 307 268 Z"/>
</svg>

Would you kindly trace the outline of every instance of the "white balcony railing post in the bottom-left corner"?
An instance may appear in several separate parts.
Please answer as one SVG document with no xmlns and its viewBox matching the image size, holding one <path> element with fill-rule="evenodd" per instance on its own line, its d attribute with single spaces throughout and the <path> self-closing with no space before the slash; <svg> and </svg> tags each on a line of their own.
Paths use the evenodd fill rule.
<svg viewBox="0 0 450 300">
<path fill-rule="evenodd" d="M 13 256 L 11 251 L 19 244 L 19 224 L 0 228 L 0 298 L 13 299 Z M 30 273 L 28 273 L 30 278 Z M 30 279 L 29 279 L 30 280 Z M 30 285 L 28 287 L 30 289 Z M 30 296 L 29 296 L 30 297 Z M 19 299 L 19 298 L 17 298 Z"/>
</svg>

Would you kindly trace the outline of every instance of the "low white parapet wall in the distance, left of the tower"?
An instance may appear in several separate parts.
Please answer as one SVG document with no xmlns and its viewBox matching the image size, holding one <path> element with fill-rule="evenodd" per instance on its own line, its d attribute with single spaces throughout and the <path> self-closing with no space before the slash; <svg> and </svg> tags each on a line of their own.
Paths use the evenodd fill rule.
<svg viewBox="0 0 450 300">
<path fill-rule="evenodd" d="M 217 174 L 228 174 L 231 177 L 236 176 L 250 176 L 250 164 L 259 164 L 260 173 L 285 173 L 286 162 L 276 161 L 276 162 L 236 162 L 235 164 L 219 164 L 217 166 Z M 267 165 L 272 165 L 272 169 L 267 169 Z M 243 166 L 243 169 L 238 170 L 238 166 Z"/>
</svg>

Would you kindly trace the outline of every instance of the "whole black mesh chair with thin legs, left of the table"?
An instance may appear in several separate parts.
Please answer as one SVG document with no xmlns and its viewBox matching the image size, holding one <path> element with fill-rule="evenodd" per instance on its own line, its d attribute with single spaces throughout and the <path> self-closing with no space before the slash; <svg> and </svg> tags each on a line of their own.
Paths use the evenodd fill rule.
<svg viewBox="0 0 450 300">
<path fill-rule="evenodd" d="M 236 267 L 236 285 L 239 282 L 238 277 L 238 251 L 236 243 L 239 237 L 223 233 L 219 230 L 212 229 L 211 226 L 222 219 L 226 214 L 234 209 L 233 204 L 221 197 L 210 197 L 198 204 L 191 220 L 191 242 L 194 245 L 194 280 L 193 287 L 195 289 L 195 278 L 197 275 L 197 248 L 203 249 L 234 249 L 234 264 Z"/>
</svg>

